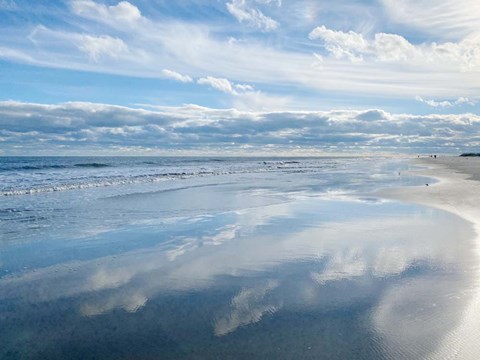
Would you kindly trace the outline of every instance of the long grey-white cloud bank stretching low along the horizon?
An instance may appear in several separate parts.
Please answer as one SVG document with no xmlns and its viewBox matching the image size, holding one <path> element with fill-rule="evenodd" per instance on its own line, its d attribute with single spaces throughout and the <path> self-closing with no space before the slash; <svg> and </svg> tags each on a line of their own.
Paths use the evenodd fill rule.
<svg viewBox="0 0 480 360">
<path fill-rule="evenodd" d="M 95 103 L 0 102 L 5 154 L 451 152 L 480 146 L 480 116 L 391 114 L 383 110 L 251 112 Z"/>
</svg>

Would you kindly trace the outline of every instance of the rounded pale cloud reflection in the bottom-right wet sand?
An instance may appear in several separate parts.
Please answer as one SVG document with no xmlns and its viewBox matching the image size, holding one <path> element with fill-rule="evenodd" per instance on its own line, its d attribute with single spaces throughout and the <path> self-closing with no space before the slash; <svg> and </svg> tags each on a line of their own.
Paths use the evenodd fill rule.
<svg viewBox="0 0 480 360">
<path fill-rule="evenodd" d="M 389 288 L 372 315 L 383 350 L 402 359 L 457 358 L 445 356 L 448 351 L 432 353 L 439 350 L 448 331 L 458 326 L 471 297 L 461 291 L 466 287 L 460 276 L 438 275 Z"/>
</svg>

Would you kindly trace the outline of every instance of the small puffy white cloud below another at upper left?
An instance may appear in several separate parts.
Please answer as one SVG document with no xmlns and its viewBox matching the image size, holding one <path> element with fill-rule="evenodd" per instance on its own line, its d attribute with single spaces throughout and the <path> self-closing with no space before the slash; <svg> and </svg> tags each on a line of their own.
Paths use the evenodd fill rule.
<svg viewBox="0 0 480 360">
<path fill-rule="evenodd" d="M 99 61 L 104 55 L 116 58 L 120 54 L 128 52 L 127 45 L 121 39 L 108 35 L 82 35 L 77 42 L 77 46 L 81 51 L 87 53 L 93 61 Z"/>
</svg>

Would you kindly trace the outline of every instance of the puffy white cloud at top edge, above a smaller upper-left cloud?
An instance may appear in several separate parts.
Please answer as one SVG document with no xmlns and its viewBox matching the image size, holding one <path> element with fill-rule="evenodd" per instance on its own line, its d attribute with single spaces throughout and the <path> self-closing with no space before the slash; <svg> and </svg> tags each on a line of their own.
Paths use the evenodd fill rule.
<svg viewBox="0 0 480 360">
<path fill-rule="evenodd" d="M 93 0 L 73 0 L 72 10 L 85 18 L 101 21 L 112 26 L 133 25 L 142 18 L 140 10 L 128 1 L 117 5 L 99 4 Z"/>
</svg>

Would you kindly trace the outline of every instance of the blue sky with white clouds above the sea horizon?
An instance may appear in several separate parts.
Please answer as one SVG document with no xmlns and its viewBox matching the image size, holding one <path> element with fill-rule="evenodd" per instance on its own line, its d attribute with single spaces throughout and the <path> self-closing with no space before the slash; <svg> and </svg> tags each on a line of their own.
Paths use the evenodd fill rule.
<svg viewBox="0 0 480 360">
<path fill-rule="evenodd" d="M 478 0 L 0 0 L 0 155 L 466 151 Z"/>
</svg>

